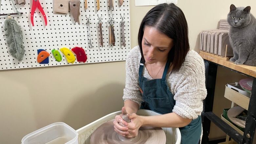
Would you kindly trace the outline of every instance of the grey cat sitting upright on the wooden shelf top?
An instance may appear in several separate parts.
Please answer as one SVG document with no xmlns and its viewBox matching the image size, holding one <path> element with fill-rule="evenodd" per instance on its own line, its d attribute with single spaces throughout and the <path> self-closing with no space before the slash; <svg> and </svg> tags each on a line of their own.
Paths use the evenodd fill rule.
<svg viewBox="0 0 256 144">
<path fill-rule="evenodd" d="M 234 57 L 230 61 L 237 65 L 256 66 L 256 19 L 250 13 L 251 7 L 230 6 L 227 15 L 229 40 Z"/>
</svg>

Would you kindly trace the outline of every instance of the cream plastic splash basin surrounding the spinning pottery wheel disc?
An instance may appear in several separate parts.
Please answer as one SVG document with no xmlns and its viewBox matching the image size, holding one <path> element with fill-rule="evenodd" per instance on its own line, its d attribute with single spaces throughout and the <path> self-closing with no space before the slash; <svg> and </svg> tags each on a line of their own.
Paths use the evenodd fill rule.
<svg viewBox="0 0 256 144">
<path fill-rule="evenodd" d="M 78 130 L 78 142 L 79 144 L 90 144 L 91 134 L 106 121 L 112 120 L 117 114 L 121 114 L 121 111 L 110 113 Z M 150 110 L 138 110 L 138 115 L 150 116 L 159 115 L 159 113 Z M 181 143 L 181 132 L 179 128 L 162 128 L 166 135 L 166 144 L 180 144 Z"/>
</svg>

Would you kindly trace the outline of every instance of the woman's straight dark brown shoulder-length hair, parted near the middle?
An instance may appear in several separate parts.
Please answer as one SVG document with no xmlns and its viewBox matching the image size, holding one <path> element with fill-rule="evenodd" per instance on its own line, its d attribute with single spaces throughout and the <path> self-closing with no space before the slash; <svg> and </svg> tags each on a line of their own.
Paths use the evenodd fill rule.
<svg viewBox="0 0 256 144">
<path fill-rule="evenodd" d="M 172 3 L 164 3 L 155 6 L 145 15 L 140 24 L 138 34 L 140 53 L 144 62 L 142 39 L 145 26 L 154 27 L 173 39 L 174 46 L 168 54 L 168 59 L 172 61 L 172 72 L 178 71 L 189 51 L 187 21 L 182 10 Z"/>
</svg>

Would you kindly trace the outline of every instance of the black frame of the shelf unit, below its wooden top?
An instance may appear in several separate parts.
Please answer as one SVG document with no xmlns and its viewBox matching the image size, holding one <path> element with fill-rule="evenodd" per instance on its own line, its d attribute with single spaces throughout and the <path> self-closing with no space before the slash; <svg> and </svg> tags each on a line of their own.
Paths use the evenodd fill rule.
<svg viewBox="0 0 256 144">
<path fill-rule="evenodd" d="M 234 139 L 238 144 L 256 144 L 256 139 L 254 139 L 256 133 L 256 77 L 251 75 L 238 72 L 234 69 L 225 67 L 223 65 L 211 62 L 209 60 L 204 59 L 205 62 L 209 64 L 208 70 L 206 70 L 207 82 L 207 96 L 205 99 L 205 108 L 203 117 L 203 138 L 202 144 L 209 143 L 209 132 L 210 132 L 210 124 L 213 122 L 217 125 L 221 130 L 223 130 L 227 135 L 229 135 L 232 139 Z M 214 100 L 214 91 L 217 77 L 217 69 L 218 66 L 227 68 L 231 71 L 238 72 L 240 74 L 246 75 L 248 77 L 253 78 L 251 97 L 248 107 L 247 119 L 245 123 L 244 135 L 239 134 L 236 130 L 226 124 L 221 118 L 212 113 L 213 108 L 213 100 Z"/>
</svg>

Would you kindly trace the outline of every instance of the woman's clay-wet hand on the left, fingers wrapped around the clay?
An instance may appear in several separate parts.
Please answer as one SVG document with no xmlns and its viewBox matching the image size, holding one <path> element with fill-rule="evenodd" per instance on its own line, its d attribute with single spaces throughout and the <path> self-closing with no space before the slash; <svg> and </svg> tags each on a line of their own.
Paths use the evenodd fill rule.
<svg viewBox="0 0 256 144">
<path fill-rule="evenodd" d="M 121 117 L 123 114 L 126 114 L 124 107 L 122 107 L 122 114 L 116 115 L 113 123 L 114 123 L 115 131 L 122 136 L 126 136 L 129 134 L 128 132 L 129 129 L 126 127 L 128 123 Z M 122 124 L 123 126 L 120 125 L 119 123 Z"/>
</svg>

